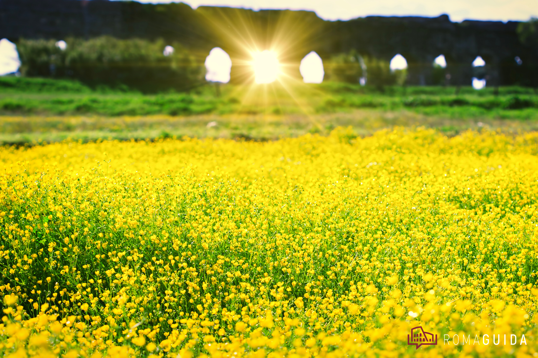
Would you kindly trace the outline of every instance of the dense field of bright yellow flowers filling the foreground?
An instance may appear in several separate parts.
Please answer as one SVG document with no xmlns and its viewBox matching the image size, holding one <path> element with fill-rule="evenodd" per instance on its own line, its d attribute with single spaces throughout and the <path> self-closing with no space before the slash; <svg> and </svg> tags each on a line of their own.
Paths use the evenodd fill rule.
<svg viewBox="0 0 538 358">
<path fill-rule="evenodd" d="M 536 357 L 537 159 L 426 129 L 0 148 L 0 350 Z"/>
</svg>

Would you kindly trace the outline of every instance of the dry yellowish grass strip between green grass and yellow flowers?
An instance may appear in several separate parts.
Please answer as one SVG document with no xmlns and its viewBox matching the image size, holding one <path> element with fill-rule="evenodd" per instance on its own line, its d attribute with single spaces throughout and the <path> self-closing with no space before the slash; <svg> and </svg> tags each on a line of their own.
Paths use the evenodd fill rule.
<svg viewBox="0 0 538 358">
<path fill-rule="evenodd" d="M 32 145 L 68 138 L 88 142 L 99 138 L 153 140 L 183 136 L 268 141 L 307 133 L 328 135 L 339 126 L 350 126 L 361 136 L 382 128 L 421 126 L 437 128 L 448 136 L 454 136 L 468 129 L 538 130 L 538 121 L 448 119 L 405 109 L 356 109 L 316 115 L 0 116 L 0 144 Z"/>
</svg>

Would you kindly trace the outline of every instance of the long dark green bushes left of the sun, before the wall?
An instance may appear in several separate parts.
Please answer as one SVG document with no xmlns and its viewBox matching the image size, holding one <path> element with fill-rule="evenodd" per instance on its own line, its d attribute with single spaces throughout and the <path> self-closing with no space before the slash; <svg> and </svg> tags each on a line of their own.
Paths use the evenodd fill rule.
<svg viewBox="0 0 538 358">
<path fill-rule="evenodd" d="M 165 56 L 162 40 L 118 40 L 101 36 L 90 40 L 66 39 L 17 43 L 20 72 L 29 77 L 74 78 L 92 87 L 128 87 L 141 92 L 185 91 L 203 80 L 203 68 L 179 43 Z"/>
</svg>

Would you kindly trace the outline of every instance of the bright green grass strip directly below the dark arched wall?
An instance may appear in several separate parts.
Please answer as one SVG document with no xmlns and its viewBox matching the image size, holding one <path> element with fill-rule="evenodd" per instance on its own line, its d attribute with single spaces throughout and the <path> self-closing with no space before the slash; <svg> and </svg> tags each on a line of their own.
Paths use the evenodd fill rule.
<svg viewBox="0 0 538 358">
<path fill-rule="evenodd" d="M 196 114 L 320 114 L 376 108 L 406 108 L 447 118 L 536 119 L 538 100 L 520 87 L 475 91 L 463 88 L 458 96 L 450 87 L 372 87 L 343 83 L 292 86 L 223 85 L 216 96 L 206 85 L 189 94 L 144 96 L 107 87 L 89 89 L 77 82 L 33 78 L 0 78 L 0 113 L 76 115 L 196 115 Z"/>
</svg>

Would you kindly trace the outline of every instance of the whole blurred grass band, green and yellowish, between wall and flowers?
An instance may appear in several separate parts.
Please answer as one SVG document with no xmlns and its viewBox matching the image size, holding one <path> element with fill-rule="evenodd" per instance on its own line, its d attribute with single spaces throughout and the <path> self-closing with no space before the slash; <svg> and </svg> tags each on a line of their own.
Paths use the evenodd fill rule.
<svg viewBox="0 0 538 358">
<path fill-rule="evenodd" d="M 534 130 L 538 96 L 524 87 L 387 86 L 337 82 L 201 85 L 188 93 L 142 94 L 79 82 L 0 77 L 0 143 L 72 138 L 120 140 L 168 136 L 273 140 L 327 134 L 351 126 L 425 126 L 455 135 L 469 128 Z M 210 124 L 211 123 L 211 124 Z"/>
</svg>

